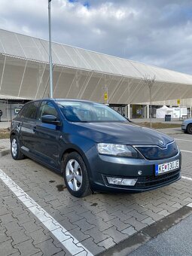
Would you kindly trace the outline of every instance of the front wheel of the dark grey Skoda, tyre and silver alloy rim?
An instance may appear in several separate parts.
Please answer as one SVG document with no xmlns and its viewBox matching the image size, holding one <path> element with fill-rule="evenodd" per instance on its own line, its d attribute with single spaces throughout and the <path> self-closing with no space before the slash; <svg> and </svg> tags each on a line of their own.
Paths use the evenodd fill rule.
<svg viewBox="0 0 192 256">
<path fill-rule="evenodd" d="M 63 177 L 69 193 L 74 197 L 86 197 L 91 194 L 90 178 L 81 155 L 77 152 L 63 157 Z"/>
</svg>

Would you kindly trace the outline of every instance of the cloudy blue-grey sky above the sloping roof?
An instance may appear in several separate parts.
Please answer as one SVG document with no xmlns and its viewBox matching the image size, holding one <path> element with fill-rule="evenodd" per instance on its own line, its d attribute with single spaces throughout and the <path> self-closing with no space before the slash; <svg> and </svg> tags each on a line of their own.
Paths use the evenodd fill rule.
<svg viewBox="0 0 192 256">
<path fill-rule="evenodd" d="M 0 29 L 48 39 L 48 0 L 0 0 Z M 52 40 L 192 74 L 191 0 L 52 0 Z"/>
</svg>

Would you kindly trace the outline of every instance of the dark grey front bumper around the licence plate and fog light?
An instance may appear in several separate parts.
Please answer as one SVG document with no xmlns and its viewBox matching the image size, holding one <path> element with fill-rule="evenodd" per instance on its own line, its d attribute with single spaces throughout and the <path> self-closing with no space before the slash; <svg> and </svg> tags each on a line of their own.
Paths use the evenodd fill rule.
<svg viewBox="0 0 192 256">
<path fill-rule="evenodd" d="M 90 183 L 93 190 L 142 192 L 163 187 L 181 178 L 181 153 L 164 160 L 111 157 L 98 154 L 96 148 L 87 152 Z M 179 160 L 179 168 L 161 175 L 155 175 L 155 165 Z M 139 175 L 140 173 L 140 175 Z M 107 177 L 137 178 L 134 186 L 109 184 Z"/>
</svg>

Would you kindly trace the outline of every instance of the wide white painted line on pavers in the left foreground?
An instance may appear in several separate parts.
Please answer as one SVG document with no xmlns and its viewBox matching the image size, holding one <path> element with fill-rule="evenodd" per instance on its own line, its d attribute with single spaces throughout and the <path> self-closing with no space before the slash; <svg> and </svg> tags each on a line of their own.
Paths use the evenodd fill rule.
<svg viewBox="0 0 192 256">
<path fill-rule="evenodd" d="M 28 194 L 24 192 L 11 178 L 6 175 L 5 172 L 0 169 L 0 178 L 8 186 L 8 188 L 17 196 L 17 198 L 32 212 L 59 242 L 66 247 L 66 249 L 72 255 L 87 255 L 93 256 L 93 254 L 78 242 L 69 231 L 67 231 L 62 225 L 59 224 L 51 215 L 48 214 L 41 206 L 38 205 Z"/>
</svg>

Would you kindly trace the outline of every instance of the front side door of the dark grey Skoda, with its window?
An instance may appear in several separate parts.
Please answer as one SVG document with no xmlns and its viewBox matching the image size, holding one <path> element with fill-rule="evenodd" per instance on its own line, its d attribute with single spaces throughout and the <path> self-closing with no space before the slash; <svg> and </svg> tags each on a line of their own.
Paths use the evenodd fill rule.
<svg viewBox="0 0 192 256">
<path fill-rule="evenodd" d="M 42 123 L 43 115 L 52 114 L 59 119 L 58 111 L 53 102 L 42 101 L 38 111 L 38 122 L 35 126 L 35 155 L 39 160 L 50 166 L 59 168 L 59 136 L 60 126 Z"/>
</svg>

